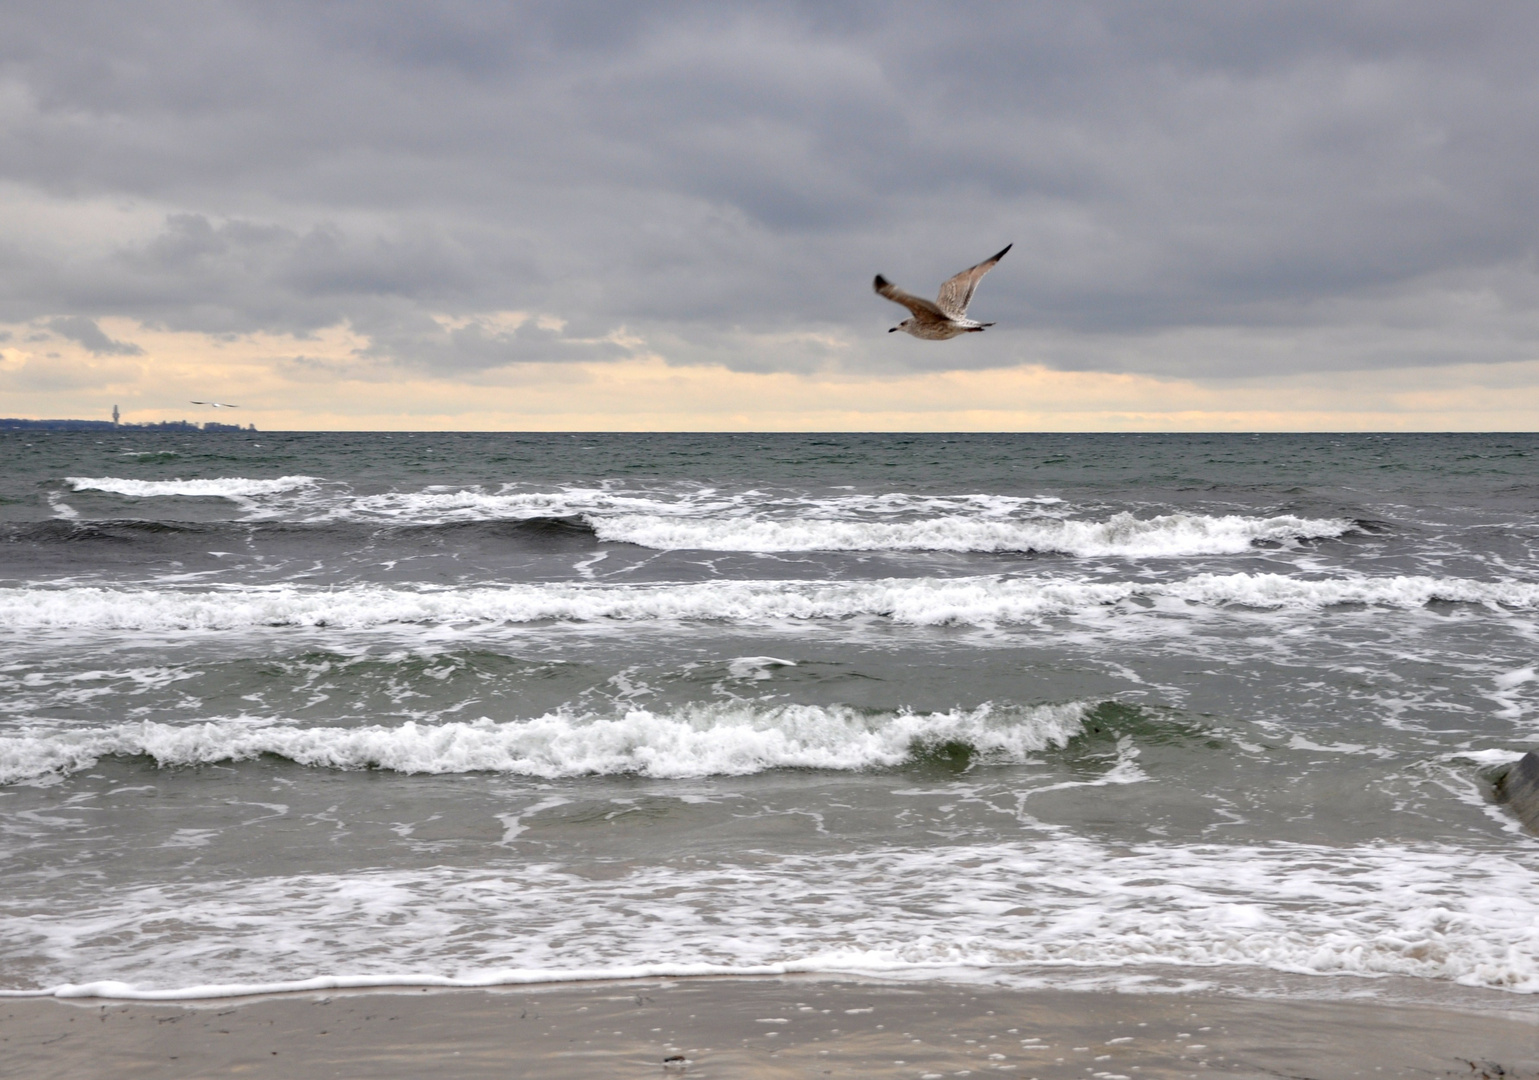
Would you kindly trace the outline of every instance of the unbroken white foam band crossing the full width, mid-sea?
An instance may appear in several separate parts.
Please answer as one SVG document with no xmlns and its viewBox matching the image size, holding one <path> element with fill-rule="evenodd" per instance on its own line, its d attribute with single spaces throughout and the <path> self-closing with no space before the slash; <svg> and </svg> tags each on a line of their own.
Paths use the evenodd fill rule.
<svg viewBox="0 0 1539 1080">
<path fill-rule="evenodd" d="M 1157 612 L 1130 600 L 1168 600 Z M 371 629 L 392 625 L 486 626 L 548 620 L 843 620 L 914 626 L 1010 626 L 1108 609 L 1127 617 L 1247 608 L 1319 611 L 1336 605 L 1417 609 L 1434 602 L 1539 609 L 1539 583 L 1444 577 L 1197 574 L 1187 578 L 1073 577 L 879 578 L 870 582 L 693 582 L 680 585 L 522 583 L 388 588 L 297 585 L 235 588 L 0 588 L 3 631 L 237 631 L 255 626 Z"/>
</svg>

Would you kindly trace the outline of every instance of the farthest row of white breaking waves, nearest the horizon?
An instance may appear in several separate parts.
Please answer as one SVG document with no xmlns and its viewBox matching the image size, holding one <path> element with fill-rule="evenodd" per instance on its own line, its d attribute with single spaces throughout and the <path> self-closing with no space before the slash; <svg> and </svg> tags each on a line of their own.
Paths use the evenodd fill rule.
<svg viewBox="0 0 1539 1080">
<path fill-rule="evenodd" d="M 219 497 L 254 518 L 294 522 L 388 522 L 446 525 L 573 518 L 600 540 L 660 551 L 954 551 L 1054 552 L 1077 557 L 1159 558 L 1239 554 L 1257 543 L 1296 545 L 1354 531 L 1345 518 L 1291 514 L 1120 512 L 1105 520 L 1073 517 L 1053 497 L 1005 495 L 790 495 L 682 491 L 483 491 L 479 488 L 354 494 L 319 477 L 272 480 L 131 480 L 66 477 L 74 491 L 134 498 Z"/>
</svg>

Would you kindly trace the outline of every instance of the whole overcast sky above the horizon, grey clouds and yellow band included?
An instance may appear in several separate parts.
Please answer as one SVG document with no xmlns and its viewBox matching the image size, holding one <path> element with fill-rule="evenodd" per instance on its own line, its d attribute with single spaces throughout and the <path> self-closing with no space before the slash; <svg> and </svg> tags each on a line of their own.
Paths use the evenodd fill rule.
<svg viewBox="0 0 1539 1080">
<path fill-rule="evenodd" d="M 0 415 L 1534 428 L 1536 160 L 1531 2 L 9 0 Z"/>
</svg>

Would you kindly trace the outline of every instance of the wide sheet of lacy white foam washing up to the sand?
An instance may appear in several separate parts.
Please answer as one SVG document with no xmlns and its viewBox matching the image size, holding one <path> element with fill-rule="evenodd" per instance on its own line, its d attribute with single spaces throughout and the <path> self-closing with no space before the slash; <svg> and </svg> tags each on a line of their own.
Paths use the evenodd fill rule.
<svg viewBox="0 0 1539 1080">
<path fill-rule="evenodd" d="M 0 948 L 40 958 L 32 992 L 71 997 L 685 974 L 1083 980 L 1156 965 L 1539 992 L 1533 851 L 1054 834 L 616 869 L 509 855 L 92 886 L 0 923 Z"/>
</svg>

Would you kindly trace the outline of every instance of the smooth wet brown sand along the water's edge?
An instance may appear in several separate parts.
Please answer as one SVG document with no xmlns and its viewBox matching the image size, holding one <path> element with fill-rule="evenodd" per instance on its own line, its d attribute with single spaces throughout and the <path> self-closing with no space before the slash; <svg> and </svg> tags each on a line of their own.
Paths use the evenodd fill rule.
<svg viewBox="0 0 1539 1080">
<path fill-rule="evenodd" d="M 26 1077 L 1539 1077 L 1539 1015 L 830 978 L 0 1002 Z M 669 1060 L 671 1058 L 671 1060 Z"/>
</svg>

